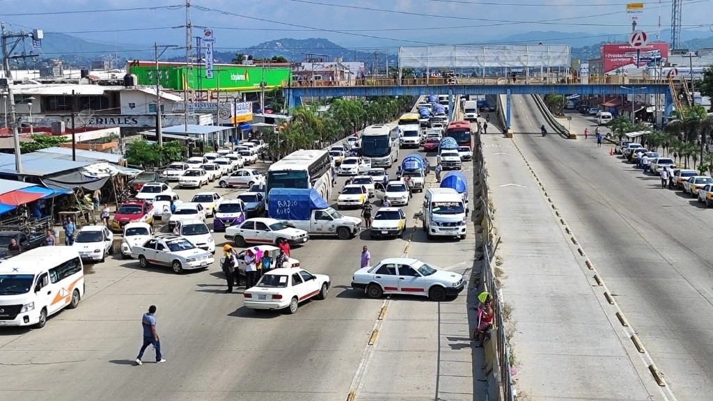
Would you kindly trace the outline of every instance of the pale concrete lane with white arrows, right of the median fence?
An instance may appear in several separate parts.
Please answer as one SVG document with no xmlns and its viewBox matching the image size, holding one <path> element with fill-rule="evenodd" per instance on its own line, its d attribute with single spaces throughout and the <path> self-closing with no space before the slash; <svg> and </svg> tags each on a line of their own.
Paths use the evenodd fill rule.
<svg viewBox="0 0 713 401">
<path fill-rule="evenodd" d="M 595 293 L 585 258 L 515 143 L 522 142 L 483 136 L 502 238 L 497 255 L 503 258 L 503 298 L 515 328 L 518 395 L 530 401 L 650 400 L 629 344 L 605 315 L 608 305 Z"/>
</svg>

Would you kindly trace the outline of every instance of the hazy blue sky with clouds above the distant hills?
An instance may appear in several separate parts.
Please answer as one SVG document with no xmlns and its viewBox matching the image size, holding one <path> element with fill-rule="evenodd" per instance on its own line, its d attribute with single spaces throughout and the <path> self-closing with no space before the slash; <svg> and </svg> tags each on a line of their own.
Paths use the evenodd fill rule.
<svg viewBox="0 0 713 401">
<path fill-rule="evenodd" d="M 631 0 L 630 0 L 631 1 Z M 266 40 L 322 37 L 340 46 L 390 48 L 463 44 L 530 31 L 600 38 L 631 31 L 625 0 L 192 0 L 193 36 L 214 29 L 215 49 Z M 638 28 L 670 34 L 671 1 L 644 0 Z M 99 43 L 185 44 L 185 0 L 0 0 L 9 29 L 43 29 Z M 149 9 L 151 8 L 151 9 Z M 713 36 L 713 0 L 684 0 L 684 36 Z M 530 37 L 528 37 L 530 39 Z M 537 43 L 541 38 L 533 36 Z M 650 39 L 650 40 L 651 40 Z M 548 41 L 553 43 L 553 41 Z"/>
</svg>

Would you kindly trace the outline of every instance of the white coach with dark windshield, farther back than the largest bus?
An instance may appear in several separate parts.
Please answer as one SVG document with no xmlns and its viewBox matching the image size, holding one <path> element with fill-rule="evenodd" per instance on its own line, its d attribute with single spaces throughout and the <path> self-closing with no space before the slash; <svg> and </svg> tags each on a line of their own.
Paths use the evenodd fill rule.
<svg viewBox="0 0 713 401">
<path fill-rule="evenodd" d="M 418 114 L 415 114 L 416 129 L 419 129 Z M 411 126 L 408 124 L 406 126 Z M 386 124 L 375 124 L 361 132 L 361 157 L 372 167 L 391 167 L 399 158 L 399 130 L 406 126 L 390 128 Z"/>
</svg>

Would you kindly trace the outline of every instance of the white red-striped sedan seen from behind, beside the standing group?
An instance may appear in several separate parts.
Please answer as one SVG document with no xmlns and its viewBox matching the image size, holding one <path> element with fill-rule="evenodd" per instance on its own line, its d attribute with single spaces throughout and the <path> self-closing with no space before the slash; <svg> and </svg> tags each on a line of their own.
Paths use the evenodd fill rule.
<svg viewBox="0 0 713 401">
<path fill-rule="evenodd" d="M 330 280 L 328 275 L 312 274 L 300 268 L 270 270 L 257 285 L 243 293 L 243 305 L 250 309 L 277 310 L 287 308 L 297 312 L 299 303 L 316 297 L 327 298 Z"/>
</svg>

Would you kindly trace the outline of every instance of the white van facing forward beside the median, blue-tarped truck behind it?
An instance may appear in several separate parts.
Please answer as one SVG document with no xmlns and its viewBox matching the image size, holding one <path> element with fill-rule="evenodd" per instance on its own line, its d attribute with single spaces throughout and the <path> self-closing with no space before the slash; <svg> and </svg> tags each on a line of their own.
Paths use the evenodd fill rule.
<svg viewBox="0 0 713 401">
<path fill-rule="evenodd" d="M 453 188 L 429 188 L 424 195 L 424 231 L 434 235 L 466 238 L 466 204 Z"/>
</svg>

